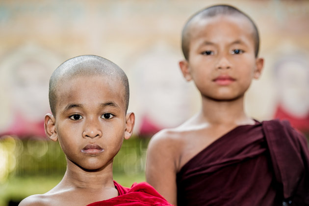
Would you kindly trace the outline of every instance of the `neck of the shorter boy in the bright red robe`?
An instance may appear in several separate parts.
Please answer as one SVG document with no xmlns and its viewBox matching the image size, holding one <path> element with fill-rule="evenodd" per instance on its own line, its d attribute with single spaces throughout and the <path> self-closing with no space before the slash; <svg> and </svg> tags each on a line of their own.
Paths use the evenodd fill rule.
<svg viewBox="0 0 309 206">
<path fill-rule="evenodd" d="M 103 190 L 115 188 L 113 182 L 112 161 L 103 169 L 87 171 L 67 159 L 67 171 L 61 180 L 63 186 L 76 189 Z"/>
</svg>

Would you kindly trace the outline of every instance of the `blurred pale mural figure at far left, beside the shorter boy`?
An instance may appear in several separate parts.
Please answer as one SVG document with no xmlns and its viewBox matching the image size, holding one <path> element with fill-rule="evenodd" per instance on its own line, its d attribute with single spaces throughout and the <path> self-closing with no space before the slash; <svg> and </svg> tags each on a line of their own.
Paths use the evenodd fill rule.
<svg viewBox="0 0 309 206">
<path fill-rule="evenodd" d="M 8 118 L 0 136 L 45 138 L 44 116 L 49 112 L 48 82 L 58 61 L 50 52 L 25 45 L 2 60 L 1 75 L 6 75 L 4 88 Z"/>
</svg>

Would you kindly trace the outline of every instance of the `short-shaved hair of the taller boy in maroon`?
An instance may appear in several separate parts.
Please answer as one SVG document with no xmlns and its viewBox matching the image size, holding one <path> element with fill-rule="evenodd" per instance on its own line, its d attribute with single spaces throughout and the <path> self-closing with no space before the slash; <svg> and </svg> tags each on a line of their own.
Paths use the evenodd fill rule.
<svg viewBox="0 0 309 206">
<path fill-rule="evenodd" d="M 182 29 L 181 34 L 181 48 L 183 56 L 186 60 L 189 59 L 189 46 L 190 46 L 190 39 L 192 37 L 191 28 L 192 25 L 202 19 L 212 18 L 219 15 L 226 15 L 226 16 L 238 16 L 247 19 L 254 30 L 253 37 L 255 42 L 255 56 L 258 57 L 258 50 L 259 50 L 259 34 L 258 28 L 253 20 L 243 13 L 242 11 L 238 10 L 237 8 L 230 6 L 230 5 L 214 5 L 207 7 L 201 11 L 198 11 L 194 15 L 192 15 L 189 20 L 186 22 Z"/>
</svg>

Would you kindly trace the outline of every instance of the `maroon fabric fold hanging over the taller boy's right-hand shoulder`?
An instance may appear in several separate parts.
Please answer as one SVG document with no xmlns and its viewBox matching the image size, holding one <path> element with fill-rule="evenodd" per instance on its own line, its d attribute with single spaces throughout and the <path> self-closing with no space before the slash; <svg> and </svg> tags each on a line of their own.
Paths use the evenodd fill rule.
<svg viewBox="0 0 309 206">
<path fill-rule="evenodd" d="M 309 149 L 306 138 L 288 121 L 264 121 L 263 130 L 284 202 L 309 206 Z"/>
</svg>

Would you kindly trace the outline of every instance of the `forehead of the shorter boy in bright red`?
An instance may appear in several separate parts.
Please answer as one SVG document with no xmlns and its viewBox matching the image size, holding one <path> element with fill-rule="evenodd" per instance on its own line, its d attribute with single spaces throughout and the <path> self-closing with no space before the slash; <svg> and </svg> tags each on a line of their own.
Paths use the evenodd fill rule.
<svg viewBox="0 0 309 206">
<path fill-rule="evenodd" d="M 124 86 L 117 77 L 90 75 L 76 76 L 58 83 L 56 89 L 56 111 L 70 103 L 93 108 L 104 102 L 115 102 L 125 110 Z"/>
</svg>

